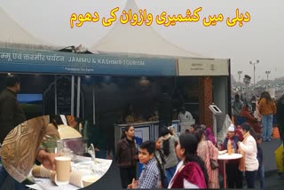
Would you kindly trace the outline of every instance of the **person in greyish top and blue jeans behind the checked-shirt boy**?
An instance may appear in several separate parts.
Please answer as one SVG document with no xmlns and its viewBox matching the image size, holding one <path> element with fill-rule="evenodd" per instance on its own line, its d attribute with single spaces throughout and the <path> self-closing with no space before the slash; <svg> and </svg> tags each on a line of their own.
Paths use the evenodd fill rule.
<svg viewBox="0 0 284 190">
<path fill-rule="evenodd" d="M 175 154 L 175 146 L 178 139 L 177 136 L 170 134 L 170 130 L 167 127 L 162 127 L 160 132 L 162 136 L 162 152 L 165 155 L 166 161 L 164 169 L 166 170 L 168 182 L 170 182 L 177 169 L 178 160 Z"/>
</svg>

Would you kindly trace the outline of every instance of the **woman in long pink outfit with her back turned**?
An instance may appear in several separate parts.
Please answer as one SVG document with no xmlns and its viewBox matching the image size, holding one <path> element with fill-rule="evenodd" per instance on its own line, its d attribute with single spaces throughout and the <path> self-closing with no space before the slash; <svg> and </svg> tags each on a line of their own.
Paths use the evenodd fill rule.
<svg viewBox="0 0 284 190">
<path fill-rule="evenodd" d="M 217 161 L 218 149 L 211 141 L 206 140 L 204 130 L 197 129 L 194 131 L 194 135 L 198 140 L 197 155 L 201 157 L 203 162 L 205 162 L 205 167 L 208 172 L 208 187 L 219 188 L 218 170 L 212 169 L 210 164 L 210 159 Z"/>
</svg>

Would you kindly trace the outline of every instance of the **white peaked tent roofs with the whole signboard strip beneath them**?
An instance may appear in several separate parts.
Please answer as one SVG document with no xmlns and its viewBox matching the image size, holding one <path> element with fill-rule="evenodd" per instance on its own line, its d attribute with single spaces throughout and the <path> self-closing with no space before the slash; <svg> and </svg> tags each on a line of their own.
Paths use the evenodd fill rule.
<svg viewBox="0 0 284 190">
<path fill-rule="evenodd" d="M 124 10 L 129 9 L 138 12 L 134 0 L 127 1 Z M 2 8 L 0 23 L 5 26 L 0 32 L 2 72 L 87 75 L 229 75 L 230 72 L 229 59 L 212 59 L 185 51 L 159 36 L 151 26 L 133 27 L 117 21 L 88 50 L 95 54 L 83 55 L 59 52 L 64 47 L 36 39 Z"/>
</svg>

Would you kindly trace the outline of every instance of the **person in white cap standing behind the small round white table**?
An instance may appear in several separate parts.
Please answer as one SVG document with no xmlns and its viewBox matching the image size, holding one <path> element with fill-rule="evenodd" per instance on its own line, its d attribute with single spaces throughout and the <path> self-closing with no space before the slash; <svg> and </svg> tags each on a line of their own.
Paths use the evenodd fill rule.
<svg viewBox="0 0 284 190">
<path fill-rule="evenodd" d="M 235 152 L 238 152 L 239 137 L 235 133 L 235 127 L 233 124 L 228 128 L 227 136 L 222 144 L 221 150 L 227 149 L 228 140 L 232 142 L 232 148 Z M 228 188 L 242 188 L 242 172 L 239 170 L 240 160 L 230 160 L 226 163 L 225 172 L 227 174 Z"/>
</svg>

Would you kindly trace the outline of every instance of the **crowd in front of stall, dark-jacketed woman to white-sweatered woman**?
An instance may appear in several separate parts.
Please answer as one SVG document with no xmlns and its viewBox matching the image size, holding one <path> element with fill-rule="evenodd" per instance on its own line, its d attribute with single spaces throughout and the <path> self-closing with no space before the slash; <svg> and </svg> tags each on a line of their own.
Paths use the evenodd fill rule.
<svg viewBox="0 0 284 190">
<path fill-rule="evenodd" d="M 255 188 L 256 177 L 264 188 L 262 135 L 249 123 L 231 124 L 221 146 L 210 128 L 193 124 L 177 136 L 172 128 L 162 127 L 161 137 L 143 142 L 139 148 L 134 139 L 134 128 L 128 126 L 116 146 L 116 162 L 120 168 L 122 188 L 220 188 L 222 168 L 213 168 L 218 151 L 226 150 L 228 141 L 241 159 L 226 162 L 226 181 L 229 188 L 243 188 L 243 177 L 248 188 Z M 143 164 L 139 177 L 136 162 Z"/>
</svg>

